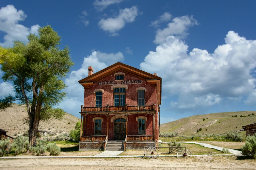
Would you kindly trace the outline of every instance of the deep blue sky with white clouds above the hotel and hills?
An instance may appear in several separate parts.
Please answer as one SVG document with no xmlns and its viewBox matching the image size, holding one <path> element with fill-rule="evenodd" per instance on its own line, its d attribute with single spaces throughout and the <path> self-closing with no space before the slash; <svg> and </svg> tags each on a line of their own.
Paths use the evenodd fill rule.
<svg viewBox="0 0 256 170">
<path fill-rule="evenodd" d="M 255 110 L 255 1 L 5 1 L 0 45 L 50 24 L 75 62 L 60 104 L 77 117 L 88 66 L 118 61 L 162 77 L 161 123 Z M 0 73 L 1 74 L 1 73 Z M 0 96 L 11 91 L 0 81 Z"/>
</svg>

